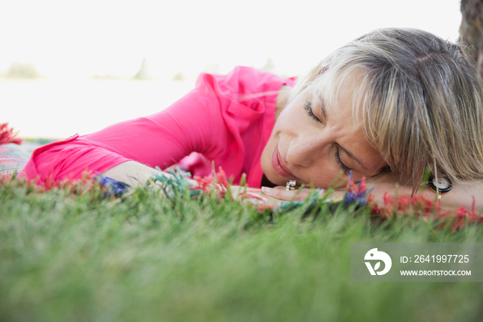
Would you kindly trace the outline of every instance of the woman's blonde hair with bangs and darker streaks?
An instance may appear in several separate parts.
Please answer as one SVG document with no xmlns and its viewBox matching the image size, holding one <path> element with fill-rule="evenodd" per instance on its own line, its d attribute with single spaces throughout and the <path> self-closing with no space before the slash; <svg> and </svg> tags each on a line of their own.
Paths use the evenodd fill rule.
<svg viewBox="0 0 483 322">
<path fill-rule="evenodd" d="M 355 120 L 362 115 L 368 142 L 413 192 L 426 168 L 453 182 L 483 179 L 482 84 L 465 48 L 422 30 L 375 30 L 300 77 L 293 96 L 315 85 L 337 104 L 355 72 Z"/>
</svg>

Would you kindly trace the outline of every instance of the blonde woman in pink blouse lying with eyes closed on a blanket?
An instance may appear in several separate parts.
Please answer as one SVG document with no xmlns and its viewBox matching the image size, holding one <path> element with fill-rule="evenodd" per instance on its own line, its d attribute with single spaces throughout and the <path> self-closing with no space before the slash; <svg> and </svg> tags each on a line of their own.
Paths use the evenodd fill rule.
<svg viewBox="0 0 483 322">
<path fill-rule="evenodd" d="M 483 93 L 468 57 L 428 32 L 388 28 L 336 50 L 297 82 L 253 68 L 204 74 L 164 111 L 38 149 L 21 176 L 99 171 L 135 184 L 152 167 L 179 162 L 203 175 L 213 160 L 234 184 L 246 173 L 249 187 L 277 200 L 293 198 L 293 184 L 340 185 L 349 171 L 380 199 L 415 193 L 429 169 L 435 192 L 422 193 L 452 187 L 442 205 L 469 207 L 475 196 L 480 209 Z M 266 187 L 274 185 L 283 189 Z"/>
</svg>

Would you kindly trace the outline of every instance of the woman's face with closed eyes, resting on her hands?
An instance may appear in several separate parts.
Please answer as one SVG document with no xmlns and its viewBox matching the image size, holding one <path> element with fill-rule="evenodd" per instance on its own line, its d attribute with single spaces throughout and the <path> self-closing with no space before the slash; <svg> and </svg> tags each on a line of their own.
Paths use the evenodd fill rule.
<svg viewBox="0 0 483 322">
<path fill-rule="evenodd" d="M 386 162 L 368 142 L 362 122 L 354 122 L 352 93 L 357 74 L 339 90 L 337 106 L 308 86 L 284 107 L 262 153 L 262 170 L 271 182 L 327 188 L 353 172 L 355 182 L 380 173 Z M 339 183 L 342 184 L 342 183 Z"/>
</svg>

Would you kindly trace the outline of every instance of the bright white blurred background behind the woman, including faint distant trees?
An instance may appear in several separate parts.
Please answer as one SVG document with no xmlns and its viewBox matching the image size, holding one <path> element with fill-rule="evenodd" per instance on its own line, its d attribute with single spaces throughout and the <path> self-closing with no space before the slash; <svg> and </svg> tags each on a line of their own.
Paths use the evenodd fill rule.
<svg viewBox="0 0 483 322">
<path fill-rule="evenodd" d="M 456 41 L 459 0 L 15 0 L 0 3 L 0 123 L 66 138 L 165 108 L 198 73 L 304 73 L 355 37 Z"/>
</svg>

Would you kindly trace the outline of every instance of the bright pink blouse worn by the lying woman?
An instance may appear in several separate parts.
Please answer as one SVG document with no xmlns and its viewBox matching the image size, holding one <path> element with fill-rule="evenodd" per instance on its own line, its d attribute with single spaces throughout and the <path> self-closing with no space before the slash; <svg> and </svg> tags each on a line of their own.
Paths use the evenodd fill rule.
<svg viewBox="0 0 483 322">
<path fill-rule="evenodd" d="M 277 94 L 294 83 L 243 66 L 228 75 L 203 73 L 193 91 L 158 113 L 41 146 L 19 176 L 39 183 L 76 180 L 130 160 L 160 169 L 181 164 L 193 176 L 206 176 L 213 160 L 234 184 L 246 173 L 248 187 L 260 187 Z"/>
</svg>

